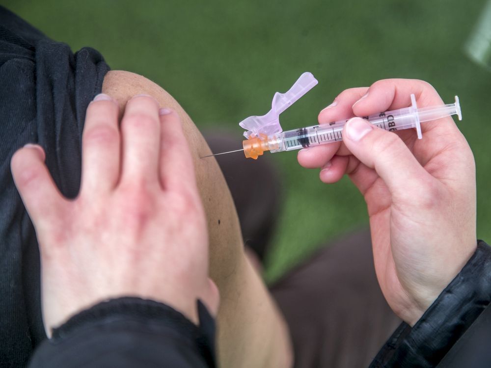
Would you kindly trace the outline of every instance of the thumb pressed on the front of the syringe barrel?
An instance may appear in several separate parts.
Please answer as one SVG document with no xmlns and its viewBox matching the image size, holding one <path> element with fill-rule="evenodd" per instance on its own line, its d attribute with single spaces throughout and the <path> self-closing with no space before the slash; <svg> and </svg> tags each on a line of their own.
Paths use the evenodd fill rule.
<svg viewBox="0 0 491 368">
<path fill-rule="evenodd" d="M 364 119 L 352 118 L 346 123 L 343 141 L 356 158 L 375 169 L 393 196 L 404 196 L 408 188 L 421 187 L 431 179 L 397 134 Z"/>
</svg>

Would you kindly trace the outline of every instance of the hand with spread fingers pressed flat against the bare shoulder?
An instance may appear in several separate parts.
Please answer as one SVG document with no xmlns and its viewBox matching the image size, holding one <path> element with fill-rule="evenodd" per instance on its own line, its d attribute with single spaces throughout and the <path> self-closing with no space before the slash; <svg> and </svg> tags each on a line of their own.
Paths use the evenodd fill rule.
<svg viewBox="0 0 491 368">
<path fill-rule="evenodd" d="M 194 323 L 198 298 L 217 313 L 207 224 L 179 117 L 149 96 L 127 103 L 120 128 L 118 111 L 107 95 L 88 106 L 73 201 L 57 190 L 41 147 L 27 145 L 11 161 L 39 242 L 48 335 L 119 296 L 164 302 Z"/>
</svg>

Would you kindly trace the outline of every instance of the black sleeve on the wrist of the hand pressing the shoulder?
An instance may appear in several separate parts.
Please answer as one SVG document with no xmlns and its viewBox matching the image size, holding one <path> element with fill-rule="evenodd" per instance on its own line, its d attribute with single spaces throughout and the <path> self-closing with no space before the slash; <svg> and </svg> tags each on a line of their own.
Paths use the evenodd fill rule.
<svg viewBox="0 0 491 368">
<path fill-rule="evenodd" d="M 55 329 L 29 368 L 215 367 L 215 323 L 200 301 L 198 314 L 196 326 L 152 300 L 102 302 Z"/>
</svg>

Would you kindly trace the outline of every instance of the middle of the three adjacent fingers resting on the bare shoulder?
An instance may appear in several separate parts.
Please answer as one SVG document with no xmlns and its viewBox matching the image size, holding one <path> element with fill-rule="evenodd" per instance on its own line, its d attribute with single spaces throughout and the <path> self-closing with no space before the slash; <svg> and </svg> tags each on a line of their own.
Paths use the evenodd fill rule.
<svg viewBox="0 0 491 368">
<path fill-rule="evenodd" d="M 153 97 L 137 95 L 125 107 L 121 121 L 121 182 L 158 180 L 160 152 L 159 103 Z"/>
</svg>

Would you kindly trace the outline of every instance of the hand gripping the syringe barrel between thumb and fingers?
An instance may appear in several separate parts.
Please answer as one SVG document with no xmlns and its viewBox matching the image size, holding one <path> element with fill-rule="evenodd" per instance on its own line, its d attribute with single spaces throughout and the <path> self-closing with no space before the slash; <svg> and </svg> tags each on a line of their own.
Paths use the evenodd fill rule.
<svg viewBox="0 0 491 368">
<path fill-rule="evenodd" d="M 319 114 L 321 124 L 410 105 L 441 105 L 421 80 L 386 79 L 342 92 Z M 345 173 L 370 216 L 377 278 L 392 310 L 413 325 L 476 249 L 476 184 L 472 152 L 452 118 L 414 130 L 384 131 L 351 119 L 342 144 L 299 152 L 300 164 L 322 168 L 334 183 Z"/>
</svg>

